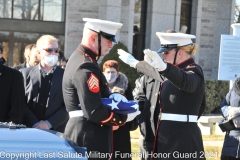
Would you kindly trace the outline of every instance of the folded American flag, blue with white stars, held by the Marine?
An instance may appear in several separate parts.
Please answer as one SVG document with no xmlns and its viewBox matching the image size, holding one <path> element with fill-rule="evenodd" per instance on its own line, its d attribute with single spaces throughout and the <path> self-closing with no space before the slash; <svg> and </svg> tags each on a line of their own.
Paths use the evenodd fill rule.
<svg viewBox="0 0 240 160">
<path fill-rule="evenodd" d="M 133 113 L 136 112 L 139 108 L 138 103 L 136 101 L 117 102 L 112 98 L 102 98 L 102 103 L 113 112 L 119 114 Z M 79 104 L 78 107 L 81 107 L 81 105 Z"/>
</svg>

